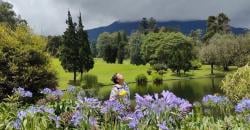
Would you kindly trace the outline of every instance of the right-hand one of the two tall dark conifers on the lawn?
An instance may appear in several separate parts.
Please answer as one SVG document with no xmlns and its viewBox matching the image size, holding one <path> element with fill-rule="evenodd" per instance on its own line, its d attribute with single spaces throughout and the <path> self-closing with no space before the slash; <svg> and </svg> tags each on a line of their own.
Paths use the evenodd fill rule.
<svg viewBox="0 0 250 130">
<path fill-rule="evenodd" d="M 83 28 L 84 26 L 82 24 L 82 17 L 80 13 L 76 34 L 77 34 L 77 42 L 80 45 L 78 70 L 81 73 L 81 78 L 83 72 L 88 72 L 90 69 L 94 67 L 94 59 L 91 54 L 88 34 L 85 30 L 83 30 Z"/>
</svg>

